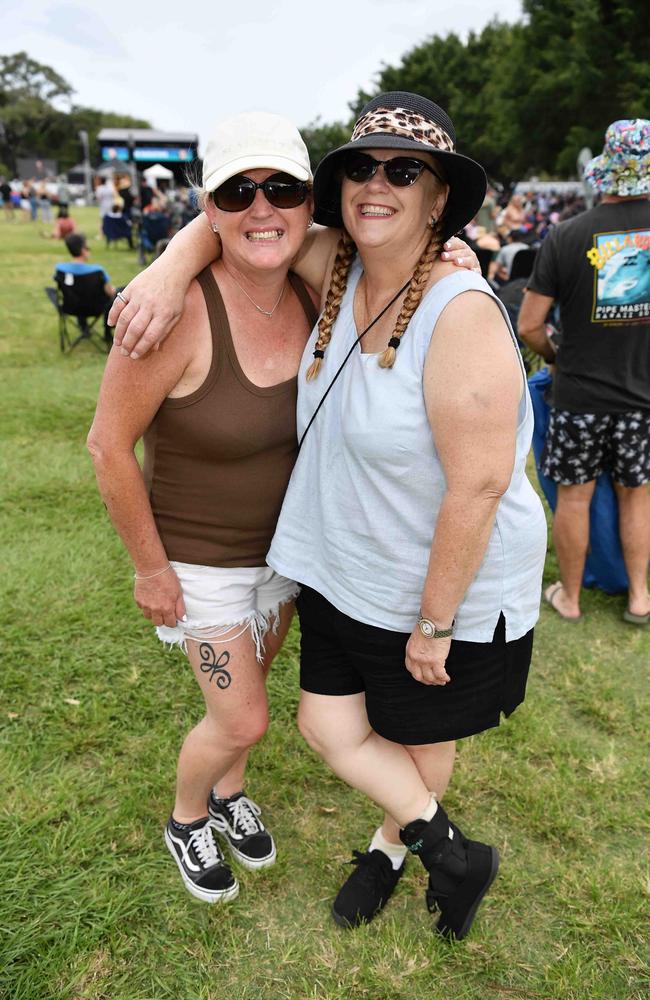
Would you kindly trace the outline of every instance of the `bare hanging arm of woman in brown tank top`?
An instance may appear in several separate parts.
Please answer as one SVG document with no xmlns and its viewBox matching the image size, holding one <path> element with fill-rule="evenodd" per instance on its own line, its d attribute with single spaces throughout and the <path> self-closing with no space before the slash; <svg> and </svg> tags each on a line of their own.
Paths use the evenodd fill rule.
<svg viewBox="0 0 650 1000">
<path fill-rule="evenodd" d="M 189 363 L 188 339 L 172 337 L 164 351 L 138 365 L 117 349 L 111 351 L 87 442 L 102 499 L 133 561 L 136 603 L 155 625 L 172 627 L 185 614 L 183 595 L 169 567 L 134 448 Z"/>
</svg>

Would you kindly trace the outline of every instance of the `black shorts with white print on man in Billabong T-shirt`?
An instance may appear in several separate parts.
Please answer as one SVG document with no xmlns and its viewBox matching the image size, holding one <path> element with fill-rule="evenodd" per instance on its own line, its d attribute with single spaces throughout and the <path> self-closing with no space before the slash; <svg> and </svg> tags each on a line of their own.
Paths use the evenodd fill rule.
<svg viewBox="0 0 650 1000">
<path fill-rule="evenodd" d="M 551 409 L 542 472 L 578 486 L 610 472 L 621 486 L 650 482 L 650 411 L 571 413 Z"/>
</svg>

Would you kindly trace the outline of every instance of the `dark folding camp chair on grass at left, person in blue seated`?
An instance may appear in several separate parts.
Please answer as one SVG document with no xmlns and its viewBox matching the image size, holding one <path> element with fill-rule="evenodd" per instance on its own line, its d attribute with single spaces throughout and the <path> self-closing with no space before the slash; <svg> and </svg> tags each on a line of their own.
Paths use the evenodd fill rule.
<svg viewBox="0 0 650 1000">
<path fill-rule="evenodd" d="M 45 294 L 59 314 L 59 346 L 63 352 L 72 351 L 82 340 L 89 340 L 98 351 L 107 354 L 112 338 L 106 328 L 105 318 L 110 302 L 104 291 L 101 271 L 90 274 L 71 274 L 56 271 L 56 288 L 46 288 Z M 78 335 L 72 339 L 68 320 L 75 319 Z M 101 333 L 97 324 L 101 324 Z"/>
</svg>

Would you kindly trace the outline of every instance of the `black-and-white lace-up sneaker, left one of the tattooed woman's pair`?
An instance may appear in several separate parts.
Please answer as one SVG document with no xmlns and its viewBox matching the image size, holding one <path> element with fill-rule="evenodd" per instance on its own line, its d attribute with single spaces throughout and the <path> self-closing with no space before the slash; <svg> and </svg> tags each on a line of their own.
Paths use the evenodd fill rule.
<svg viewBox="0 0 650 1000">
<path fill-rule="evenodd" d="M 212 826 L 206 816 L 177 830 L 170 819 L 165 827 L 165 843 L 187 891 L 206 903 L 220 903 L 235 898 L 239 883 L 224 861 Z"/>
</svg>

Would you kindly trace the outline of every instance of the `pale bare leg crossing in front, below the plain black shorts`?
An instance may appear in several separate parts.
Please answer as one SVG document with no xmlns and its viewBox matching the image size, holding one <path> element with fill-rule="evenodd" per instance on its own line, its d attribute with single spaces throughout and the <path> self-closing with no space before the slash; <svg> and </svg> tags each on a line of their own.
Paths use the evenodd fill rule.
<svg viewBox="0 0 650 1000">
<path fill-rule="evenodd" d="M 403 746 L 371 728 L 365 695 L 302 691 L 300 731 L 335 774 L 406 826 L 429 805 L 431 792 Z"/>
</svg>

